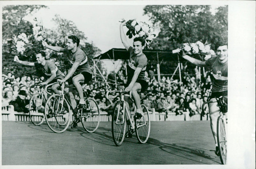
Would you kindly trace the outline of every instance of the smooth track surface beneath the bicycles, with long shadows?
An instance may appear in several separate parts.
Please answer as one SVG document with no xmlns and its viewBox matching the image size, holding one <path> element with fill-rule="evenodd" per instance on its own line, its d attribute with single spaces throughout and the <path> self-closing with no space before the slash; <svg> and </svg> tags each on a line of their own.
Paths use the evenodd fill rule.
<svg viewBox="0 0 256 169">
<path fill-rule="evenodd" d="M 43 123 L 2 121 L 2 165 L 220 164 L 210 121 L 151 122 L 146 144 L 125 138 L 116 147 L 111 122 L 95 133 L 78 128 L 53 133 Z"/>
</svg>

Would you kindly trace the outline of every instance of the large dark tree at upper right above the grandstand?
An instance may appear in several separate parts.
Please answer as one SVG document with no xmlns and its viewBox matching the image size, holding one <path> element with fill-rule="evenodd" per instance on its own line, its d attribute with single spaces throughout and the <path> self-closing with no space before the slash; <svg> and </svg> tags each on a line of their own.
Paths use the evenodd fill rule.
<svg viewBox="0 0 256 169">
<path fill-rule="evenodd" d="M 214 49 L 218 40 L 228 40 L 228 6 L 217 8 L 215 15 L 210 5 L 147 5 L 144 15 L 148 15 L 158 36 L 149 44 L 151 49 L 173 50 L 183 43 L 207 41 Z M 161 73 L 173 73 L 175 67 L 161 65 Z M 183 64 L 186 61 L 181 59 Z M 194 65 L 188 63 L 188 68 Z"/>
</svg>

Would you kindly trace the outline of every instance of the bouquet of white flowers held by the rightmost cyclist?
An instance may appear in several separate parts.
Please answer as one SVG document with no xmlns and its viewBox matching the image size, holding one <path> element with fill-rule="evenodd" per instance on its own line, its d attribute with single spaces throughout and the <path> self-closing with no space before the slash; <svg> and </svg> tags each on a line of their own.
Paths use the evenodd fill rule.
<svg viewBox="0 0 256 169">
<path fill-rule="evenodd" d="M 172 53 L 179 53 L 180 50 L 184 50 L 184 52 L 192 57 L 199 56 L 201 59 L 202 56 L 208 56 L 212 54 L 212 50 L 210 48 L 211 44 L 204 45 L 202 42 L 197 41 L 196 43 L 184 43 L 181 48 L 177 48 L 172 50 Z"/>
</svg>

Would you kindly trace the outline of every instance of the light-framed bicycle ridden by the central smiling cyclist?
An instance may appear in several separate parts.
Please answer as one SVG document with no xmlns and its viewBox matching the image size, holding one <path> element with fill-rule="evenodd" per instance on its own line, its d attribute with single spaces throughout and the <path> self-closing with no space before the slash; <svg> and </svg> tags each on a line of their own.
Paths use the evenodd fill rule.
<svg viewBox="0 0 256 169">
<path fill-rule="evenodd" d="M 109 92 L 120 92 L 121 94 L 121 101 L 118 101 L 114 107 L 114 114 L 112 115 L 112 122 L 111 122 L 111 129 L 112 129 L 112 137 L 113 141 L 116 144 L 116 146 L 120 146 L 125 137 L 125 129 L 126 129 L 126 118 L 128 117 L 128 120 L 131 124 L 131 133 L 136 133 L 136 137 L 139 141 L 139 143 L 146 143 L 148 141 L 148 137 L 150 134 L 150 119 L 148 114 L 148 108 L 145 105 L 141 105 L 141 110 L 143 112 L 142 117 L 140 120 L 134 118 L 134 121 L 132 121 L 132 113 L 129 115 L 129 111 L 126 107 L 125 101 L 124 101 L 124 90 L 120 91 L 108 91 L 106 93 L 106 97 L 108 99 L 108 93 Z M 130 92 L 130 99 L 134 103 L 134 100 L 132 99 L 131 92 Z M 135 110 L 136 112 L 136 106 Z M 127 117 L 125 116 L 125 113 Z M 133 129 L 135 131 L 133 131 Z"/>
</svg>

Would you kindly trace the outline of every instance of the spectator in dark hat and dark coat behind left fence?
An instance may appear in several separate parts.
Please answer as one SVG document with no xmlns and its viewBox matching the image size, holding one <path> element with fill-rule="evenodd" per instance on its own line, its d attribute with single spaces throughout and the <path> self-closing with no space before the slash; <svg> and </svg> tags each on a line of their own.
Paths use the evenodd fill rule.
<svg viewBox="0 0 256 169">
<path fill-rule="evenodd" d="M 26 106 L 29 104 L 29 100 L 25 99 L 26 96 L 27 96 L 26 91 L 21 90 L 19 92 L 19 95 L 17 96 L 17 98 L 11 103 L 14 107 L 14 111 L 24 112 L 24 113 L 29 112 L 28 108 L 26 108 Z"/>
</svg>

